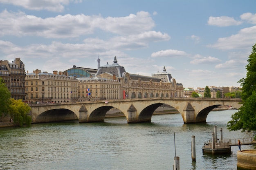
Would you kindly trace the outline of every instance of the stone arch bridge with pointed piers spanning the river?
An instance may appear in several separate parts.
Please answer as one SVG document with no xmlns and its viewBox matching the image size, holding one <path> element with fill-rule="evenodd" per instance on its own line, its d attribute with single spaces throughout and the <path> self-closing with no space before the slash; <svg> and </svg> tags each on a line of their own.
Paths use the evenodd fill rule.
<svg viewBox="0 0 256 170">
<path fill-rule="evenodd" d="M 153 112 L 167 104 L 177 109 L 184 124 L 205 122 L 208 113 L 221 105 L 240 108 L 240 98 L 140 98 L 108 101 L 31 104 L 32 123 L 78 119 L 79 123 L 104 121 L 108 110 L 121 110 L 128 123 L 151 121 Z"/>
</svg>

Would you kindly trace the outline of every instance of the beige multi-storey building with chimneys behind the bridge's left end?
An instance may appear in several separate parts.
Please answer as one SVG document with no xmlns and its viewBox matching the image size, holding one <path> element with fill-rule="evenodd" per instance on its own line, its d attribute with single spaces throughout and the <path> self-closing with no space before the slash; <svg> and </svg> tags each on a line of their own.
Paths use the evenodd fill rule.
<svg viewBox="0 0 256 170">
<path fill-rule="evenodd" d="M 71 102 L 77 98 L 78 81 L 63 72 L 41 72 L 36 69 L 26 74 L 26 101 L 29 103 Z"/>
</svg>

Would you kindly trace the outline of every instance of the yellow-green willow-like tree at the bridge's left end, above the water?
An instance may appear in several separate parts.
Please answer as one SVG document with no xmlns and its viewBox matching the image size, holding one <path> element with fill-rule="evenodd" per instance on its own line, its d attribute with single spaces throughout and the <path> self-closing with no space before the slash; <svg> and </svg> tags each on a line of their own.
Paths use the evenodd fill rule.
<svg viewBox="0 0 256 170">
<path fill-rule="evenodd" d="M 28 104 L 22 102 L 21 99 L 15 100 L 10 99 L 11 103 L 9 105 L 8 113 L 10 115 L 10 121 L 13 119 L 18 125 L 22 126 L 23 124 L 27 124 L 30 126 L 31 117 L 27 116 L 27 113 L 31 110 Z"/>
</svg>

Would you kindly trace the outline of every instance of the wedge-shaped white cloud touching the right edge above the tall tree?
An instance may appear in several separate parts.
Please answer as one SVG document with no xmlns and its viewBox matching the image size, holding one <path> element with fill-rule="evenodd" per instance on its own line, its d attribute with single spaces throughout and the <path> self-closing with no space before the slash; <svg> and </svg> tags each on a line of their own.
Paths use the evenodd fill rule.
<svg viewBox="0 0 256 170">
<path fill-rule="evenodd" d="M 256 26 L 241 29 L 237 34 L 231 35 L 230 37 L 219 38 L 218 41 L 213 45 L 208 45 L 215 49 L 246 49 L 250 48 L 256 42 Z"/>
</svg>

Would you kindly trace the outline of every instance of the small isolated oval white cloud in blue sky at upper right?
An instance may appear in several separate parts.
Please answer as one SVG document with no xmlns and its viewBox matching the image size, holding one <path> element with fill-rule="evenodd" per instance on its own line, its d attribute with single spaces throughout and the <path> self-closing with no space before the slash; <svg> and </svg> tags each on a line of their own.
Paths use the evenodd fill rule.
<svg viewBox="0 0 256 170">
<path fill-rule="evenodd" d="M 215 26 L 231 26 L 231 25 L 240 25 L 243 22 L 237 21 L 234 18 L 221 16 L 221 17 L 209 17 L 208 24 Z"/>
</svg>

